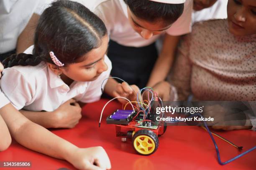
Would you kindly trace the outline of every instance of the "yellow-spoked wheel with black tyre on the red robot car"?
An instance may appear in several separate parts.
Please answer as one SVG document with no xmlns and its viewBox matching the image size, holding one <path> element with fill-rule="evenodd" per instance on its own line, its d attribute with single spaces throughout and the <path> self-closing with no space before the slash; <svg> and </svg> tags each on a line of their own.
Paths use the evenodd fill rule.
<svg viewBox="0 0 256 170">
<path fill-rule="evenodd" d="M 133 148 L 140 155 L 154 153 L 159 145 L 157 135 L 150 130 L 139 130 L 133 135 Z"/>
</svg>

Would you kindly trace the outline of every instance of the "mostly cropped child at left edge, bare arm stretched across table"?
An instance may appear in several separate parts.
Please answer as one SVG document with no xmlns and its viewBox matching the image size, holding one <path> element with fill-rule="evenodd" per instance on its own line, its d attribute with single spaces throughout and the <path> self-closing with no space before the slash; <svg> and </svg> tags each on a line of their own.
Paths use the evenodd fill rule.
<svg viewBox="0 0 256 170">
<path fill-rule="evenodd" d="M 2 70 L 3 65 L 0 62 L 0 77 Z M 9 103 L 0 90 L 0 151 L 7 149 L 11 143 L 7 126 L 13 138 L 21 145 L 54 158 L 67 160 L 78 169 L 96 170 L 111 168 L 108 155 L 103 148 L 77 148 L 68 141 L 59 138 L 24 117 Z"/>
</svg>

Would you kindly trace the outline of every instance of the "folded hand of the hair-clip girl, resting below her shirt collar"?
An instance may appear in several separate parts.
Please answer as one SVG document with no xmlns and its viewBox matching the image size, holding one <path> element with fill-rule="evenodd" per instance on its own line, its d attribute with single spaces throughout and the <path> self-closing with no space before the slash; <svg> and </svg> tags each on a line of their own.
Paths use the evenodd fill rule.
<svg viewBox="0 0 256 170">
<path fill-rule="evenodd" d="M 74 99 L 64 102 L 54 110 L 53 128 L 74 128 L 82 117 L 81 111 Z"/>
</svg>

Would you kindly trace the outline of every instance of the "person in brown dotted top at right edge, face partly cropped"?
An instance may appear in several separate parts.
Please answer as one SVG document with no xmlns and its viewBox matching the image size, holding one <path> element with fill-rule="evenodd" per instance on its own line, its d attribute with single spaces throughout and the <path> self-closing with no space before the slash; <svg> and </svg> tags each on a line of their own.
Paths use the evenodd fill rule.
<svg viewBox="0 0 256 170">
<path fill-rule="evenodd" d="M 228 0 L 227 10 L 227 20 L 197 23 L 184 38 L 170 76 L 179 100 L 256 100 L 256 1 Z M 213 128 L 256 130 L 248 116 L 248 126 Z"/>
</svg>

